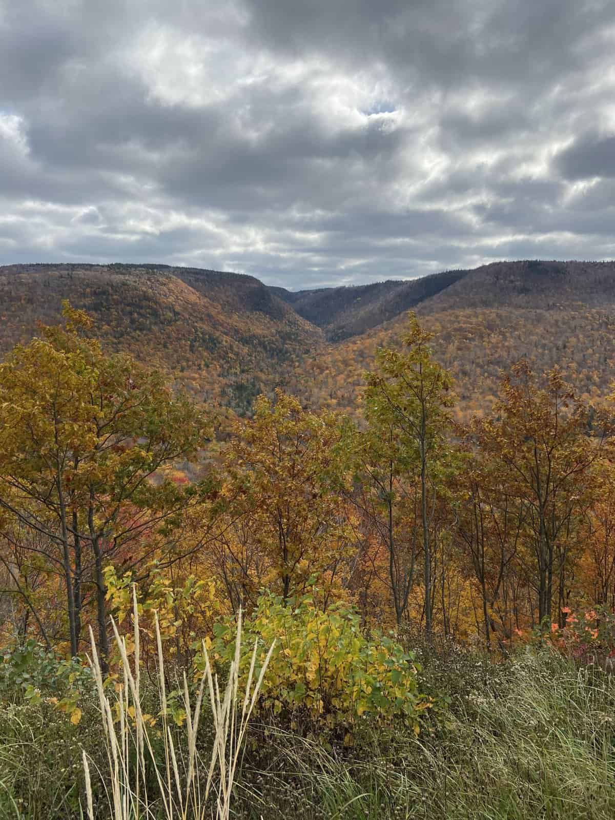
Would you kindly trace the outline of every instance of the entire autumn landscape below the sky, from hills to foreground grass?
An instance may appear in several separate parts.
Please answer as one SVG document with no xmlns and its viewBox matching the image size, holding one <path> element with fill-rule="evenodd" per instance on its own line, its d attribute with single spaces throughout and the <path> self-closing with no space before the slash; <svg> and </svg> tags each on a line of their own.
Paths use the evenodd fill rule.
<svg viewBox="0 0 615 820">
<path fill-rule="evenodd" d="M 0 298 L 2 817 L 612 816 L 615 265 Z"/>
</svg>

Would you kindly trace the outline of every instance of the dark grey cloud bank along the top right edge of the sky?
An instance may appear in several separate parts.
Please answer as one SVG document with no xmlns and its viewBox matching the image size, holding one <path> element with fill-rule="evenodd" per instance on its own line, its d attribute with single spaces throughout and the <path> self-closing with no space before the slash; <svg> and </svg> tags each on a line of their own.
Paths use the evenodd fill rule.
<svg viewBox="0 0 615 820">
<path fill-rule="evenodd" d="M 528 89 L 593 59 L 579 46 L 613 23 L 610 0 L 247 0 L 252 23 L 271 48 L 291 55 L 332 53 L 356 66 L 381 60 L 404 78 L 435 87 Z M 608 53 L 608 47 L 604 47 Z"/>
</svg>

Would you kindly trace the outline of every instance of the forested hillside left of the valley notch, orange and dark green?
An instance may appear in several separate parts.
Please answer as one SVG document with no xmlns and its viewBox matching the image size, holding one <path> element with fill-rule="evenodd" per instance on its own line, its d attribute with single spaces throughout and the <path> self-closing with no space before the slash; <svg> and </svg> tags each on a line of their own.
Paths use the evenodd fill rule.
<svg viewBox="0 0 615 820">
<path fill-rule="evenodd" d="M 244 412 L 321 344 L 321 331 L 252 276 L 134 265 L 0 267 L 0 356 L 59 320 L 91 312 L 110 349 L 173 373 L 199 398 Z"/>
</svg>

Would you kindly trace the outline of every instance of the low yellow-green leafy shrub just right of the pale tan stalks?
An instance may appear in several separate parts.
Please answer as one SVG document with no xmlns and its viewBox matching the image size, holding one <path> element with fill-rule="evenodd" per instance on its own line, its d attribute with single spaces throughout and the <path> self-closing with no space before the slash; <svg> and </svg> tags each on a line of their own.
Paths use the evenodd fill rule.
<svg viewBox="0 0 615 820">
<path fill-rule="evenodd" d="M 214 627 L 210 656 L 230 662 L 234 629 L 230 622 Z M 249 649 L 258 641 L 275 641 L 267 675 L 259 695 L 261 712 L 299 715 L 327 727 L 353 724 L 362 715 L 404 719 L 419 731 L 419 717 L 430 699 L 417 686 L 419 666 L 392 638 L 379 632 L 365 635 L 358 613 L 343 603 L 322 612 L 311 596 L 290 599 L 264 594 L 244 625 L 240 670 L 248 675 Z M 197 657 L 197 668 L 203 667 Z"/>
</svg>

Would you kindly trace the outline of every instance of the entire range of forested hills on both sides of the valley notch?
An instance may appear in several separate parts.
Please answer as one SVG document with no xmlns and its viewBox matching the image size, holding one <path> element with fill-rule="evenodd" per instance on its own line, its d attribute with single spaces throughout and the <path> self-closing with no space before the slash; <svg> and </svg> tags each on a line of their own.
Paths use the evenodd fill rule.
<svg viewBox="0 0 615 820">
<path fill-rule="evenodd" d="M 399 347 L 405 314 L 435 332 L 459 417 L 483 412 L 501 371 L 558 364 L 604 396 L 615 380 L 615 262 L 494 262 L 408 281 L 291 292 L 253 276 L 164 265 L 0 267 L 0 357 L 53 323 L 93 314 L 109 349 L 163 367 L 199 399 L 248 412 L 280 385 L 356 412 L 376 348 Z"/>
</svg>

